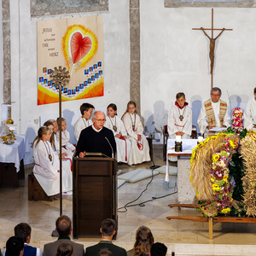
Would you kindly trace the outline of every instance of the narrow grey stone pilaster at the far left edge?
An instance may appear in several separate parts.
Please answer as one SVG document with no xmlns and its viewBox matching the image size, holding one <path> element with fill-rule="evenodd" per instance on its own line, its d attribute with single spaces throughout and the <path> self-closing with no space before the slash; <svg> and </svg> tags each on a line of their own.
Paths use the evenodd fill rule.
<svg viewBox="0 0 256 256">
<path fill-rule="evenodd" d="M 9 0 L 3 0 L 3 102 L 11 103 L 10 15 Z"/>
</svg>

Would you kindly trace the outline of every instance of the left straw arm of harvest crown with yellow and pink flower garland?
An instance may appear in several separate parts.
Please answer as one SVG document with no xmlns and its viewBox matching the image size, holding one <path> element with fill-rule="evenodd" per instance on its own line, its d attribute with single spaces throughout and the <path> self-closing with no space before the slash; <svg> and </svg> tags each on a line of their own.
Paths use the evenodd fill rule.
<svg viewBox="0 0 256 256">
<path fill-rule="evenodd" d="M 199 143 L 191 155 L 190 180 L 201 212 L 213 217 L 229 214 L 232 199 L 229 164 L 238 148 L 238 137 L 233 132 L 221 132 Z M 200 179 L 200 181 L 198 181 Z"/>
</svg>

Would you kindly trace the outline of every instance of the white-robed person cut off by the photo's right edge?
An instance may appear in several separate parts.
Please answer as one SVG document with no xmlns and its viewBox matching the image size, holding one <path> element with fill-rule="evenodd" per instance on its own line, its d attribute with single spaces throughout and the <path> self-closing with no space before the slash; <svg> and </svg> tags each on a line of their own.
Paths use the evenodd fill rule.
<svg viewBox="0 0 256 256">
<path fill-rule="evenodd" d="M 253 90 L 254 97 L 247 102 L 247 107 L 244 112 L 244 128 L 247 131 L 256 131 L 256 87 Z"/>
</svg>

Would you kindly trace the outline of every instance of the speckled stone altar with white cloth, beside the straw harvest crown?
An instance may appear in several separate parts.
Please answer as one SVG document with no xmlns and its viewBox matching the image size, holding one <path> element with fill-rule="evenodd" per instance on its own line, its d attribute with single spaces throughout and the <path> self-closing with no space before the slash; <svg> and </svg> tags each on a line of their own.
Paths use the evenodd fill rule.
<svg viewBox="0 0 256 256">
<path fill-rule="evenodd" d="M 195 197 L 195 189 L 189 179 L 190 156 L 198 140 L 183 139 L 183 151 L 175 152 L 175 139 L 167 140 L 166 172 L 169 170 L 169 155 L 177 156 L 177 201 L 180 204 L 191 204 Z"/>
</svg>

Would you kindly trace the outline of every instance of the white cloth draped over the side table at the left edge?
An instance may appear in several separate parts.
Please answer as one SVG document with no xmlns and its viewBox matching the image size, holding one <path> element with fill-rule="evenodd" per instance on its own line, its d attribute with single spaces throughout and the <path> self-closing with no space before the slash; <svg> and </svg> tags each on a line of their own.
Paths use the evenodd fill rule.
<svg viewBox="0 0 256 256">
<path fill-rule="evenodd" d="M 15 143 L 6 145 L 0 140 L 0 162 L 15 163 L 16 172 L 20 171 L 20 160 L 24 159 L 28 149 L 25 135 L 15 135 Z"/>
</svg>

